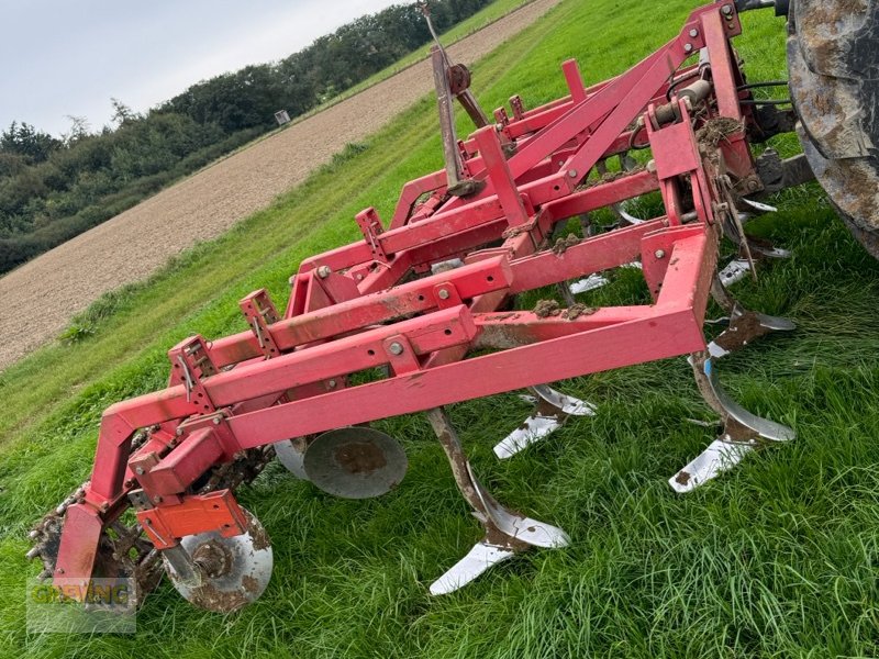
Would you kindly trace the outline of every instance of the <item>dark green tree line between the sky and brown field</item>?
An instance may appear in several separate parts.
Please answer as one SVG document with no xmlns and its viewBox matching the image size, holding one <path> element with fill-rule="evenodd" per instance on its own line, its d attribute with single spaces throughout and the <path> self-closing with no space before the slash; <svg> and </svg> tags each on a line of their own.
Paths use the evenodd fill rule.
<svg viewBox="0 0 879 659">
<path fill-rule="evenodd" d="M 430 0 L 439 31 L 491 0 Z M 301 115 L 423 46 L 418 4 L 363 16 L 277 63 L 191 86 L 145 113 L 112 99 L 112 125 L 81 118 L 53 136 L 24 122 L 0 133 L 0 272 L 135 205 L 174 180 Z"/>
</svg>

